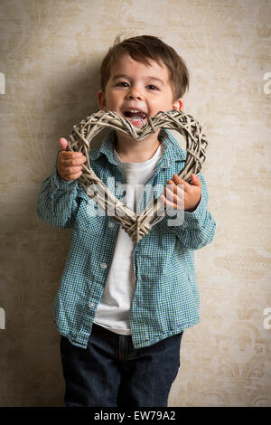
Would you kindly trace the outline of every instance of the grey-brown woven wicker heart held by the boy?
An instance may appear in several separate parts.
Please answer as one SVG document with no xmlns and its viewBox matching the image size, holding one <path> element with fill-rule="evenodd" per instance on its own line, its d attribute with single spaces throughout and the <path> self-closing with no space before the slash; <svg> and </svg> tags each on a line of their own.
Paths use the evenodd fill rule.
<svg viewBox="0 0 271 425">
<path fill-rule="evenodd" d="M 104 127 L 115 128 L 134 137 L 137 141 L 159 128 L 178 131 L 186 140 L 187 151 L 185 165 L 178 175 L 187 182 L 192 173 L 195 175 L 200 173 L 201 165 L 206 159 L 205 151 L 208 142 L 201 133 L 200 124 L 191 115 L 186 115 L 176 109 L 158 112 L 153 118 L 148 118 L 142 128 L 135 127 L 117 112 L 102 110 L 83 119 L 79 125 L 73 126 L 73 132 L 69 137 L 69 149 L 82 152 L 87 158 L 83 164 L 82 175 L 78 179 L 79 184 L 89 198 L 93 198 L 106 213 L 110 212 L 112 220 L 121 225 L 133 241 L 138 242 L 152 229 L 154 224 L 164 218 L 167 206 L 159 195 L 158 198 L 147 204 L 140 215 L 136 215 L 107 190 L 106 184 L 98 178 L 89 164 L 90 142 Z"/>
</svg>

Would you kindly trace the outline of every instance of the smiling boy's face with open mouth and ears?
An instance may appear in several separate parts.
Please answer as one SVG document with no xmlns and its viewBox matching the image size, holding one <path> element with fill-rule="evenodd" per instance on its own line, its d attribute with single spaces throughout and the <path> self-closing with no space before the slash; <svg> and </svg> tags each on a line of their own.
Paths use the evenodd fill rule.
<svg viewBox="0 0 271 425">
<path fill-rule="evenodd" d="M 144 124 L 160 110 L 182 109 L 182 99 L 173 102 L 167 67 L 155 61 L 146 66 L 129 55 L 112 66 L 105 93 L 98 90 L 97 96 L 99 109 L 115 111 L 124 118 L 141 116 Z"/>
</svg>

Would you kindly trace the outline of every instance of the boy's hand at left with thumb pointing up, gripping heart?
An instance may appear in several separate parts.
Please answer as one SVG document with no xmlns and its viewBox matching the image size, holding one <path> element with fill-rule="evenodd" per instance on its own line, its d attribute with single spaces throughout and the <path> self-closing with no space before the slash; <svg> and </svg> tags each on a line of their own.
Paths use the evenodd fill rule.
<svg viewBox="0 0 271 425">
<path fill-rule="evenodd" d="M 64 137 L 60 139 L 60 148 L 57 170 L 63 180 L 75 180 L 82 174 L 82 164 L 87 160 L 81 152 L 70 152 L 68 142 Z"/>
</svg>

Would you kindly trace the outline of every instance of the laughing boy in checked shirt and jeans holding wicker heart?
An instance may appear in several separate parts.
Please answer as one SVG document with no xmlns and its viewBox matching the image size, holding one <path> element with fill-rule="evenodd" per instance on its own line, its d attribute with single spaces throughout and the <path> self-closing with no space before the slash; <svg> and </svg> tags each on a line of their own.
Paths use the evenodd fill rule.
<svg viewBox="0 0 271 425">
<path fill-rule="evenodd" d="M 189 86 L 182 58 L 149 35 L 117 39 L 100 72 L 99 109 L 140 116 L 144 123 L 160 110 L 182 109 Z M 135 205 L 135 186 L 160 184 L 167 207 L 183 214 L 180 225 L 169 225 L 166 215 L 135 244 L 107 214 L 89 214 L 95 203 L 77 182 L 86 158 L 67 146 L 61 138 L 37 207 L 43 221 L 73 229 L 53 301 L 66 406 L 167 406 L 183 330 L 200 321 L 194 250 L 215 233 L 205 181 L 192 175 L 188 184 L 177 175 L 185 152 L 168 131 L 139 142 L 110 131 L 89 153 L 109 190 L 115 193 L 108 177 L 116 186 L 126 184 L 126 205 L 140 213 L 149 201 L 143 194 L 141 207 Z"/>
</svg>

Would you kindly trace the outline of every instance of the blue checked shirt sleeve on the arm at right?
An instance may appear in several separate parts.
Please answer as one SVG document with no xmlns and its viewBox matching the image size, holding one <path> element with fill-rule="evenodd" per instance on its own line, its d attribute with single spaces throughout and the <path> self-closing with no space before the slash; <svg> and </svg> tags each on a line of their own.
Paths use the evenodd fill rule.
<svg viewBox="0 0 271 425">
<path fill-rule="evenodd" d="M 199 175 L 201 179 L 201 201 L 197 208 L 192 212 L 175 210 L 177 217 L 179 216 L 180 225 L 170 224 L 169 216 L 166 215 L 163 220 L 164 231 L 175 234 L 183 248 L 188 250 L 199 250 L 214 239 L 216 223 L 214 222 L 208 206 L 208 190 L 203 175 Z M 171 209 L 173 210 L 173 209 Z"/>
</svg>

